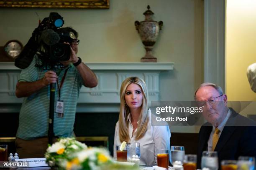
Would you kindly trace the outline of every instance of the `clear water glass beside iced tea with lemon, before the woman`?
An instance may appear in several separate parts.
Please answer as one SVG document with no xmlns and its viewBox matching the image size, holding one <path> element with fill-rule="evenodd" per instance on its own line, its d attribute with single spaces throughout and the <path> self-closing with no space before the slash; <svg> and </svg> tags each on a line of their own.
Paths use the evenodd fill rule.
<svg viewBox="0 0 256 170">
<path fill-rule="evenodd" d="M 127 161 L 136 162 L 141 158 L 140 143 L 128 143 L 127 144 Z"/>
</svg>

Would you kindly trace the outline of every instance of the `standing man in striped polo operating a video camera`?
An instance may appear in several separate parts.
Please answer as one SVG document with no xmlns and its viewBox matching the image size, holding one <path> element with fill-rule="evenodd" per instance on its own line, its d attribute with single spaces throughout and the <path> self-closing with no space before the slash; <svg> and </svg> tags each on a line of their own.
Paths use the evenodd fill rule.
<svg viewBox="0 0 256 170">
<path fill-rule="evenodd" d="M 51 83 L 56 83 L 54 110 L 59 102 L 63 108 L 62 116 L 54 112 L 55 140 L 59 137 L 74 137 L 74 120 L 82 85 L 97 86 L 94 72 L 77 57 L 78 33 L 72 28 L 59 28 L 58 33 L 74 34 L 70 45 L 70 59 L 60 61 L 64 67 L 56 71 L 35 67 L 39 57 L 33 57 L 31 64 L 20 73 L 16 85 L 16 96 L 24 97 L 19 115 L 19 126 L 16 134 L 16 152 L 20 158 L 43 158 L 48 144 L 49 98 Z M 56 107 L 57 110 L 57 107 Z"/>
</svg>

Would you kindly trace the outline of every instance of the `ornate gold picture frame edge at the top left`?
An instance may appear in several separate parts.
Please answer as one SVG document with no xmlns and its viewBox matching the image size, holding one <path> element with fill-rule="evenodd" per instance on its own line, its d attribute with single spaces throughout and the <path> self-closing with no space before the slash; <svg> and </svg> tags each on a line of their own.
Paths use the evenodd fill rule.
<svg viewBox="0 0 256 170">
<path fill-rule="evenodd" d="M 108 9 L 110 0 L 0 0 L 0 7 Z"/>
</svg>

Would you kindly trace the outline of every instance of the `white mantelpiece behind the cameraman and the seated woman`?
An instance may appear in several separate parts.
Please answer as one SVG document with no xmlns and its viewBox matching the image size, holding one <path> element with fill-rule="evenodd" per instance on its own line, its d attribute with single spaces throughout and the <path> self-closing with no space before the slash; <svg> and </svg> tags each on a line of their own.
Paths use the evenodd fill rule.
<svg viewBox="0 0 256 170">
<path fill-rule="evenodd" d="M 130 76 L 143 78 L 148 87 L 149 99 L 159 100 L 160 72 L 173 70 L 174 63 L 115 62 L 87 63 L 87 66 L 95 72 L 99 83 L 94 88 L 82 87 L 77 112 L 118 112 L 120 86 Z M 23 100 L 15 96 L 19 74 L 20 69 L 13 62 L 0 62 L 0 112 L 19 112 Z"/>
</svg>

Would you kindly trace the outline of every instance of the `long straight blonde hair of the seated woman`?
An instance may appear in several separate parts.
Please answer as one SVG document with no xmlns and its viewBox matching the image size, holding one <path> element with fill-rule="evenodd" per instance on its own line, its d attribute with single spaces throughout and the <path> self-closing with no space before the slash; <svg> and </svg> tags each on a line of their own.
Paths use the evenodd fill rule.
<svg viewBox="0 0 256 170">
<path fill-rule="evenodd" d="M 148 90 L 146 83 L 140 77 L 128 77 L 126 78 L 120 89 L 120 113 L 119 113 L 119 138 L 120 142 L 126 141 L 130 142 L 129 130 L 128 130 L 128 114 L 130 113 L 130 108 L 125 102 L 125 90 L 131 83 L 137 84 L 141 87 L 143 94 L 143 101 L 141 105 L 141 114 L 139 116 L 138 128 L 135 135 L 135 139 L 139 140 L 146 133 L 148 125 Z"/>
</svg>

